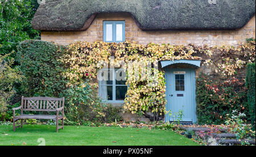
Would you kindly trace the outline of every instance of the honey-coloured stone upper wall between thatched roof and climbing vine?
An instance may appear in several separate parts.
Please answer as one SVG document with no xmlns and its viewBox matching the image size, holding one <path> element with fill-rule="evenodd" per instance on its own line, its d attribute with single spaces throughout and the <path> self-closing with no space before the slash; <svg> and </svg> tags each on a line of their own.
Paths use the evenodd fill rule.
<svg viewBox="0 0 256 157">
<path fill-rule="evenodd" d="M 234 30 L 142 31 L 129 13 L 98 14 L 86 31 L 42 31 L 41 40 L 68 45 L 74 41 L 102 41 L 104 20 L 125 20 L 126 40 L 175 45 L 239 45 L 255 38 L 255 15 L 243 28 Z M 150 19 L 148 19 L 150 20 Z"/>
</svg>

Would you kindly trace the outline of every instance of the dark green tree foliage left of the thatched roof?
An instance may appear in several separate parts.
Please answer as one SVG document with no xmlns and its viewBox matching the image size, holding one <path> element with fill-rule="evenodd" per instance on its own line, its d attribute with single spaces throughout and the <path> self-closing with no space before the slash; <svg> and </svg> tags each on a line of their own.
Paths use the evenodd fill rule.
<svg viewBox="0 0 256 157">
<path fill-rule="evenodd" d="M 38 39 L 39 31 L 31 27 L 35 2 L 31 0 L 0 0 L 0 54 L 15 56 L 16 46 L 23 40 Z"/>
</svg>

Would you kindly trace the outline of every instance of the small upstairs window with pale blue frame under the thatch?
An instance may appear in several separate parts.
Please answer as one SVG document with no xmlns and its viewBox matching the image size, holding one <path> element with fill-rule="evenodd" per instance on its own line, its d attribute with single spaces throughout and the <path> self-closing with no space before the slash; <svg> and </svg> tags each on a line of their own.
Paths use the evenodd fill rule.
<svg viewBox="0 0 256 157">
<path fill-rule="evenodd" d="M 125 41 L 125 22 L 124 21 L 105 21 L 103 22 L 103 41 L 123 42 Z"/>
</svg>

